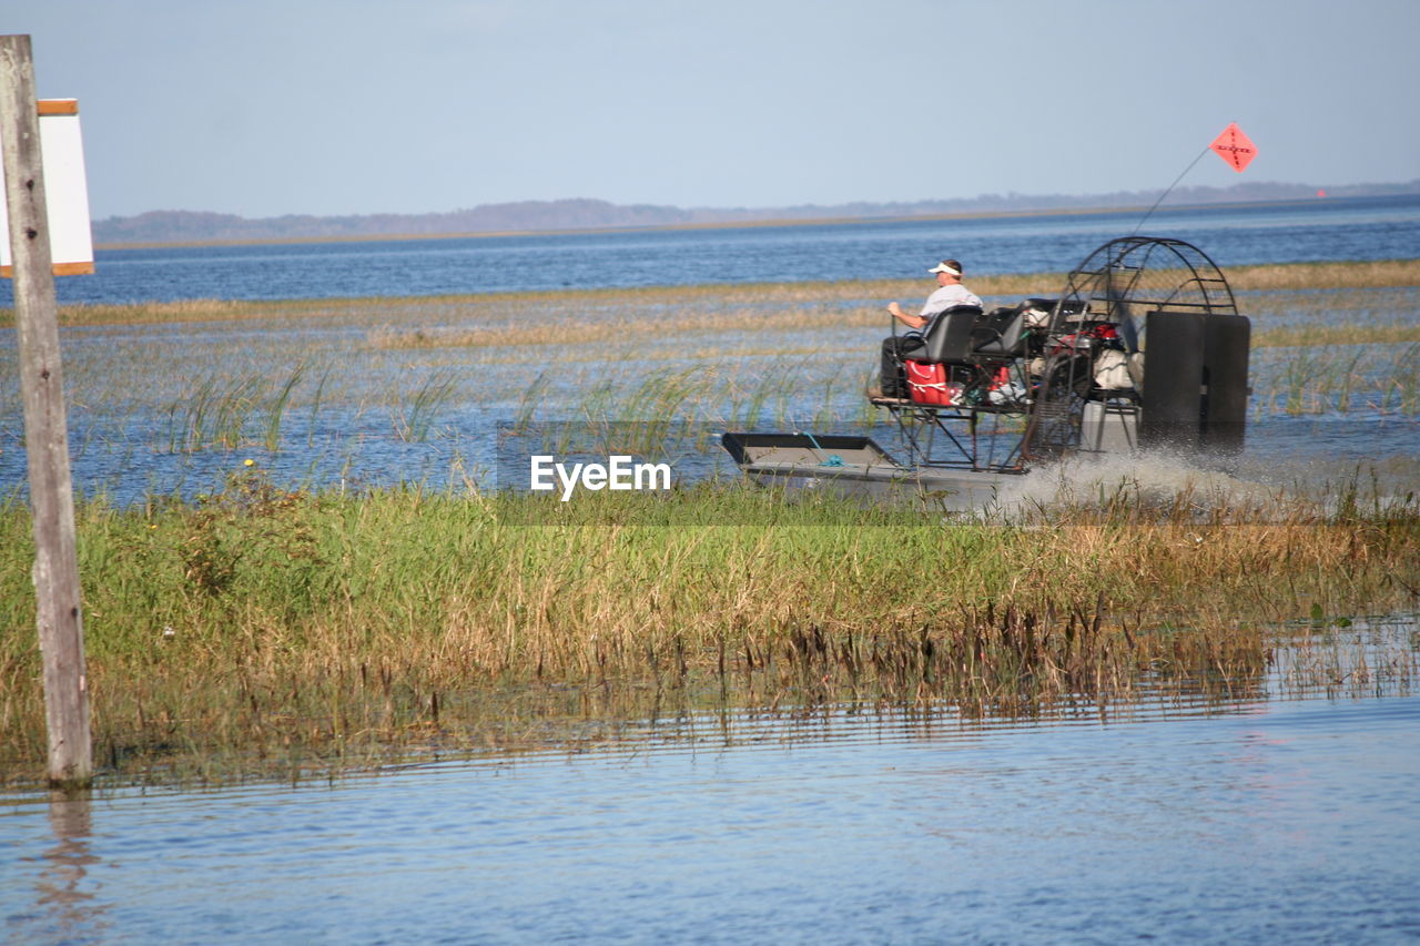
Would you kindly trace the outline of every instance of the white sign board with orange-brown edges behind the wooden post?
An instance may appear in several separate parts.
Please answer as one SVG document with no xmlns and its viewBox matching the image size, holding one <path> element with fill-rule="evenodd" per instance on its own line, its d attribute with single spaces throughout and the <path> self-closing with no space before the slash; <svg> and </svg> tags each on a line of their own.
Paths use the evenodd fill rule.
<svg viewBox="0 0 1420 946">
<path fill-rule="evenodd" d="M 88 217 L 80 107 L 72 98 L 41 99 L 38 105 L 40 158 L 44 168 L 44 203 L 50 210 L 54 274 L 92 273 L 94 233 Z M 0 276 L 10 276 L 10 216 L 0 199 Z"/>
</svg>

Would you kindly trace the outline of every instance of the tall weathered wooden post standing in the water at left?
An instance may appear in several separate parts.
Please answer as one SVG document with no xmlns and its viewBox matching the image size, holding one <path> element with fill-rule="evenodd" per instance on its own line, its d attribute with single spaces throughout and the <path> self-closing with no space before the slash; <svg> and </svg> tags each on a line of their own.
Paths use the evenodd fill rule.
<svg viewBox="0 0 1420 946">
<path fill-rule="evenodd" d="M 50 781 L 84 785 L 94 774 L 94 750 L 84 672 L 68 419 L 28 36 L 0 36 L 0 139 L 20 337 L 24 443 L 30 460 L 36 621 L 44 656 Z"/>
</svg>

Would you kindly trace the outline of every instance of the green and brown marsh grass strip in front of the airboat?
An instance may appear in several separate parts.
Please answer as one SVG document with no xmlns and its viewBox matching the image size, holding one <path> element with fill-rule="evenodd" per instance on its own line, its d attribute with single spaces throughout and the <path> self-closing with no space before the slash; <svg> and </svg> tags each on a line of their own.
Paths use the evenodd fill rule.
<svg viewBox="0 0 1420 946">
<path fill-rule="evenodd" d="M 998 524 L 707 484 L 544 516 L 247 472 L 199 503 L 84 503 L 97 753 L 114 778 L 222 780 L 517 747 L 670 705 L 978 716 L 1247 692 L 1282 622 L 1416 608 L 1414 497 L 1335 499 L 1200 514 L 1197 496 L 1115 490 Z M 0 763 L 23 780 L 44 760 L 24 510 L 0 531 Z"/>
</svg>

